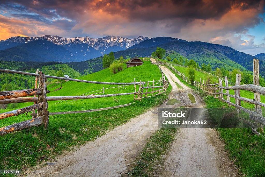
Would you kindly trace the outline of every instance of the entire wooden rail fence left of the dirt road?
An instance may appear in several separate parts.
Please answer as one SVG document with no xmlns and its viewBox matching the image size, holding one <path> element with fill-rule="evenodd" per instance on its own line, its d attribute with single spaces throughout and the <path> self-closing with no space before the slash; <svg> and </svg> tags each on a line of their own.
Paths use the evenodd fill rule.
<svg viewBox="0 0 265 177">
<path fill-rule="evenodd" d="M 33 102 L 33 105 L 31 106 L 24 107 L 24 108 L 17 109 L 17 110 L 12 110 L 12 111 L 5 112 L 5 113 L 0 113 L 0 119 L 5 119 L 11 116 L 17 116 L 17 115 L 24 114 L 24 113 L 28 114 L 29 112 L 32 111 L 32 114 L 30 114 L 32 115 L 32 119 L 2 127 L 0 128 L 0 135 L 5 135 L 10 132 L 14 132 L 17 130 L 21 130 L 21 129 L 29 128 L 33 126 L 38 126 L 42 124 L 44 124 L 44 128 L 46 129 L 49 123 L 49 115 L 88 113 L 88 112 L 94 112 L 94 111 L 115 109 L 118 107 L 129 106 L 132 104 L 132 103 L 129 103 L 125 105 L 118 105 L 118 106 L 106 107 L 106 108 L 100 108 L 100 109 L 82 110 L 82 111 L 67 111 L 67 112 L 49 113 L 48 101 L 56 101 L 56 100 L 65 101 L 65 100 L 78 100 L 78 99 L 90 99 L 90 98 L 104 98 L 104 97 L 123 96 L 123 95 L 130 95 L 130 94 L 134 94 L 135 100 L 141 100 L 142 98 L 150 97 L 150 96 L 147 96 L 147 94 L 150 94 L 150 93 L 152 93 L 152 95 L 154 95 L 154 93 L 156 92 L 158 92 L 158 94 L 161 94 L 165 92 L 165 90 L 168 87 L 168 81 L 165 80 L 165 76 L 163 74 L 162 74 L 163 77 L 159 81 L 153 80 L 153 81 L 140 81 L 140 82 L 134 81 L 131 83 L 127 83 L 127 82 L 115 83 L 115 82 L 99 82 L 99 81 L 88 81 L 88 80 L 71 79 L 71 78 L 65 78 L 65 77 L 49 76 L 49 75 L 43 74 L 42 71 L 38 71 L 38 70 L 36 74 L 29 73 L 29 72 L 15 71 L 15 70 L 5 70 L 5 69 L 0 69 L 0 72 L 24 74 L 24 75 L 30 75 L 30 76 L 36 77 L 34 89 L 0 92 L 0 104 Z M 49 93 L 50 91 L 47 90 L 47 87 L 46 87 L 47 78 L 69 80 L 69 81 L 76 81 L 76 82 L 83 82 L 83 83 L 92 83 L 92 84 L 118 85 L 118 87 L 111 87 L 111 88 L 118 88 L 118 89 L 120 89 L 120 87 L 122 86 L 124 88 L 129 85 L 134 85 L 135 92 L 104 94 L 105 90 L 110 89 L 110 88 L 103 87 L 103 89 L 93 91 L 93 92 L 99 91 L 98 93 L 94 93 L 94 94 L 89 94 L 89 93 L 93 93 L 93 92 L 89 92 L 89 93 L 85 93 L 88 95 L 83 94 L 81 96 L 50 96 L 49 97 L 47 96 L 47 93 Z M 145 87 L 145 84 L 147 84 L 147 87 Z M 152 84 L 152 86 L 150 86 L 149 84 Z M 160 84 L 160 86 L 155 86 L 156 84 Z M 138 85 L 139 85 L 139 90 L 136 91 L 136 87 Z M 160 89 L 154 90 L 156 88 L 160 88 Z M 146 89 L 145 92 L 144 92 L 144 89 Z M 152 89 L 152 91 L 148 92 L 148 89 Z M 98 95 L 100 93 L 103 93 L 103 94 Z M 154 96 L 158 94 L 155 94 Z M 34 97 L 29 97 L 29 96 L 34 96 Z M 37 110 L 37 113 L 35 112 L 35 110 Z"/>
</svg>

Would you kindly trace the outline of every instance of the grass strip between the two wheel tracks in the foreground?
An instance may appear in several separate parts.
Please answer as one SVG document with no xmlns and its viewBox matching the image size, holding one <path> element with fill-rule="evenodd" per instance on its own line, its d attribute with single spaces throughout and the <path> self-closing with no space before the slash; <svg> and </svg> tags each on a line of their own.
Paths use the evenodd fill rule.
<svg viewBox="0 0 265 177">
<path fill-rule="evenodd" d="M 175 138 L 176 128 L 160 128 L 147 140 L 142 152 L 129 167 L 128 176 L 158 176 L 158 166 L 163 166 L 164 158 Z"/>
</svg>

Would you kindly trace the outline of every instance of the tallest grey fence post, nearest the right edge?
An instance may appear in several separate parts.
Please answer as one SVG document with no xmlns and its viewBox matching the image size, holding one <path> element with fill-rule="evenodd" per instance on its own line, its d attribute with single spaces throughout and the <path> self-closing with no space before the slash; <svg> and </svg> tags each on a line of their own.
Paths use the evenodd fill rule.
<svg viewBox="0 0 265 177">
<path fill-rule="evenodd" d="M 253 59 L 253 84 L 259 86 L 259 60 Z M 255 101 L 260 102 L 260 94 L 257 92 L 254 92 L 254 99 Z M 255 105 L 255 112 L 259 115 L 262 115 L 262 110 L 260 105 Z M 257 123 L 257 122 L 256 122 Z M 263 131 L 263 125 L 257 124 L 258 128 L 261 128 Z"/>
</svg>

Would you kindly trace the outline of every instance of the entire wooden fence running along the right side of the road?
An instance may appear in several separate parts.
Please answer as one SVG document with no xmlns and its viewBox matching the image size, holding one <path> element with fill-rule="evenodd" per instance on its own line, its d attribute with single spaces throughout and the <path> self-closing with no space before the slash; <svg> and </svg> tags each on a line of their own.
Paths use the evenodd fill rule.
<svg viewBox="0 0 265 177">
<path fill-rule="evenodd" d="M 176 72 L 184 81 L 187 83 L 191 83 L 189 79 L 181 72 L 176 70 L 170 63 L 164 63 L 167 65 L 171 70 Z M 235 85 L 229 86 L 227 77 L 224 77 L 225 87 L 223 87 L 222 79 L 219 78 L 219 83 L 211 84 L 210 80 L 204 81 L 200 79 L 200 81 L 195 80 L 194 86 L 200 88 L 207 94 L 214 96 L 221 100 L 222 102 L 226 102 L 229 106 L 234 106 L 236 111 L 240 113 L 240 110 L 245 111 L 249 114 L 249 119 L 253 120 L 254 123 L 250 122 L 249 120 L 245 120 L 241 118 L 245 123 L 247 123 L 251 130 L 258 136 L 261 134 L 257 131 L 259 128 L 263 131 L 263 126 L 265 125 L 265 117 L 262 116 L 262 109 L 261 107 L 265 107 L 265 103 L 260 102 L 260 94 L 265 95 L 265 88 L 259 86 L 259 60 L 253 59 L 253 83 L 254 84 L 244 84 L 240 85 L 241 83 L 241 74 L 236 75 L 236 83 Z M 224 91 L 225 90 L 225 93 Z M 235 95 L 229 94 L 229 90 L 234 90 Z M 244 98 L 240 96 L 240 90 L 248 90 L 254 92 L 254 99 Z M 227 96 L 227 100 L 224 99 L 224 95 Z M 231 98 L 235 98 L 235 103 L 230 101 Z M 250 104 L 255 105 L 255 111 L 251 111 L 246 109 L 245 107 L 241 106 L 241 101 L 245 101 Z M 262 136 L 262 135 L 261 135 Z"/>
</svg>

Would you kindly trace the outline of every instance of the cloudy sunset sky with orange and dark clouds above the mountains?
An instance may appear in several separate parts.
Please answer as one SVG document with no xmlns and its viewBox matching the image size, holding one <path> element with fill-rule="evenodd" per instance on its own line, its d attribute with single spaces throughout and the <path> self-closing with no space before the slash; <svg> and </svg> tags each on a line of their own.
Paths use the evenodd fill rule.
<svg viewBox="0 0 265 177">
<path fill-rule="evenodd" d="M 168 36 L 265 53 L 265 0 L 1 0 L 0 40 L 12 36 Z"/>
</svg>

